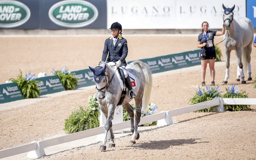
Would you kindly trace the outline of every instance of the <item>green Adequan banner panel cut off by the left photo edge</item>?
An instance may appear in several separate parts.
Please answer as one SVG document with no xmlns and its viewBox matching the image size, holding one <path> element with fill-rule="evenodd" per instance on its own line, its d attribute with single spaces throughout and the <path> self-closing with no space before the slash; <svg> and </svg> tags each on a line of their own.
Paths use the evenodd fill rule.
<svg viewBox="0 0 256 160">
<path fill-rule="evenodd" d="M 16 82 L 0 85 L 0 103 L 24 99 Z"/>
</svg>

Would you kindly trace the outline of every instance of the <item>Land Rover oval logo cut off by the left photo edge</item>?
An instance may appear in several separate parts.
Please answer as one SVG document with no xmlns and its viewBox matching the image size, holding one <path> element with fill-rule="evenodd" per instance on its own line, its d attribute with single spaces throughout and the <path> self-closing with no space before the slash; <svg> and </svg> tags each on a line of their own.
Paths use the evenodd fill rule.
<svg viewBox="0 0 256 160">
<path fill-rule="evenodd" d="M 25 4 L 14 1 L 0 1 L 0 27 L 11 28 L 20 26 L 30 18 L 30 10 Z"/>
</svg>

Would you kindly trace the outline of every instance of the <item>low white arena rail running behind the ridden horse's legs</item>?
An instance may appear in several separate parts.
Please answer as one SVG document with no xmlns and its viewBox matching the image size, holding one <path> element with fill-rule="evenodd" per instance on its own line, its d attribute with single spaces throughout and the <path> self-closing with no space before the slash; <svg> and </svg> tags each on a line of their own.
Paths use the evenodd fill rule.
<svg viewBox="0 0 256 160">
<path fill-rule="evenodd" d="M 173 110 L 168 110 L 160 113 L 156 113 L 154 115 L 146 116 L 140 118 L 140 124 L 143 125 L 145 123 L 150 123 L 157 121 L 157 126 L 163 125 L 171 125 L 173 124 L 172 117 L 193 112 L 196 110 L 202 110 L 204 108 L 212 107 L 218 105 L 218 109 L 216 111 L 224 112 L 224 105 L 256 105 L 256 98 L 223 98 L 223 99 L 214 99 L 207 102 L 197 103 L 193 105 L 189 105 L 186 107 L 181 107 Z M 113 124 L 113 131 L 129 128 L 131 125 L 130 121 L 120 122 Z M 87 137 L 91 137 L 94 135 L 104 133 L 104 126 L 92 128 L 89 130 L 76 132 L 67 134 L 64 136 L 51 138 L 43 141 L 31 142 L 30 144 L 25 144 L 9 149 L 0 150 L 0 158 L 14 156 L 17 154 L 25 153 L 25 152 L 33 152 L 33 157 L 30 158 L 38 158 L 45 155 L 44 148 L 50 147 L 62 143 L 66 143 L 69 141 L 75 141 Z"/>
</svg>

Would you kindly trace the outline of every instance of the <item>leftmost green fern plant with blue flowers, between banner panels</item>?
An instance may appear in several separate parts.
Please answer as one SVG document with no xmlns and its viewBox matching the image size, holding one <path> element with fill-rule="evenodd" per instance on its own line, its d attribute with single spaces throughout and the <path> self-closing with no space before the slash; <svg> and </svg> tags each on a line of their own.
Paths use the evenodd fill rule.
<svg viewBox="0 0 256 160">
<path fill-rule="evenodd" d="M 20 88 L 24 98 L 36 98 L 39 97 L 40 89 L 37 83 L 40 82 L 35 80 L 35 73 L 31 75 L 29 72 L 26 73 L 25 77 L 22 77 L 22 72 L 17 76 L 17 79 L 11 78 L 9 81 L 16 82 Z"/>
</svg>

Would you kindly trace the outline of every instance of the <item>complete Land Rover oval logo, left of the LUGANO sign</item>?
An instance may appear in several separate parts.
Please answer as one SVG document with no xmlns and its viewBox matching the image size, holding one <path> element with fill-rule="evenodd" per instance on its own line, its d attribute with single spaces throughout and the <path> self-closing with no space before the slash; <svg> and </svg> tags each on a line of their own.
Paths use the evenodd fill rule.
<svg viewBox="0 0 256 160">
<path fill-rule="evenodd" d="M 54 4 L 48 12 L 49 18 L 62 27 L 84 27 L 98 17 L 97 8 L 83 0 L 65 0 Z"/>
</svg>

